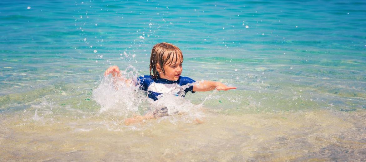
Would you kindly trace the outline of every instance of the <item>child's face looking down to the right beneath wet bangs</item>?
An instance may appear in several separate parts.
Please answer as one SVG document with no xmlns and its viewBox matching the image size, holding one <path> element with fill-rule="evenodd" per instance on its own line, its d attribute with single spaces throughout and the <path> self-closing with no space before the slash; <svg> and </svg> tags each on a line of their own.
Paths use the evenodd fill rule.
<svg viewBox="0 0 366 162">
<path fill-rule="evenodd" d="M 175 60 L 176 62 L 164 65 L 165 75 L 161 71 L 160 66 L 157 66 L 157 71 L 159 72 L 160 78 L 176 81 L 183 71 L 182 62 L 180 62 L 180 56 L 178 59 L 173 58 L 173 55 L 171 57 L 171 60 Z"/>
</svg>

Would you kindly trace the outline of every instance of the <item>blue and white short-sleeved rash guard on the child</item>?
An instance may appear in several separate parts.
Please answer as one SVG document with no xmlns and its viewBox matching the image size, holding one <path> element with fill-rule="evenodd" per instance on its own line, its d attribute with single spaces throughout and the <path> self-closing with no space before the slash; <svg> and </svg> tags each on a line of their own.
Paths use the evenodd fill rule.
<svg viewBox="0 0 366 162">
<path fill-rule="evenodd" d="M 185 96 L 187 92 L 193 91 L 195 80 L 188 77 L 179 77 L 177 81 L 171 81 L 162 78 L 152 78 L 151 76 L 141 76 L 137 78 L 140 88 L 147 91 L 147 96 L 154 101 L 161 94 L 171 94 L 176 96 Z"/>
</svg>

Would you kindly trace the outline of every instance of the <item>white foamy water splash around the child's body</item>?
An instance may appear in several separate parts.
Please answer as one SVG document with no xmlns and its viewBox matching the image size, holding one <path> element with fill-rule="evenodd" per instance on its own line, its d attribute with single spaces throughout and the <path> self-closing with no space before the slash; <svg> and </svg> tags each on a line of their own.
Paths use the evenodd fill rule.
<svg viewBox="0 0 366 162">
<path fill-rule="evenodd" d="M 169 115 L 184 114 L 182 119 L 201 119 L 204 115 L 200 108 L 202 104 L 195 105 L 184 99 L 184 89 L 197 83 L 187 84 L 153 101 L 146 92 L 139 89 L 137 77 L 139 76 L 134 66 L 129 65 L 121 71 L 121 78 L 107 76 L 102 78 L 101 83 L 93 90 L 93 100 L 100 106 L 100 113 L 110 113 L 113 116 L 130 117 L 131 115 L 145 115 L 155 109 L 167 107 Z M 132 78 L 132 79 L 124 79 Z"/>
</svg>

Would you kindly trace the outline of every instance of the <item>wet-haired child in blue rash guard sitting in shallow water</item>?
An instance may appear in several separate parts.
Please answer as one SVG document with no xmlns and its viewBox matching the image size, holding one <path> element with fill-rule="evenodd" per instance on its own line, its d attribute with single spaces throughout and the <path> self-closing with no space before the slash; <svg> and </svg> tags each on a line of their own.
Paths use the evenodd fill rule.
<svg viewBox="0 0 366 162">
<path fill-rule="evenodd" d="M 147 91 L 147 96 L 150 99 L 158 100 L 161 95 L 176 95 L 185 96 L 187 92 L 195 93 L 197 91 L 209 90 L 229 90 L 236 89 L 236 87 L 229 87 L 221 82 L 213 81 L 198 81 L 198 83 L 188 77 L 180 76 L 183 71 L 183 54 L 182 51 L 170 43 L 158 43 L 154 45 L 150 56 L 150 75 L 141 76 L 137 78 L 135 85 L 140 89 Z M 104 76 L 112 74 L 112 77 L 122 79 L 127 84 L 131 84 L 131 80 L 121 78 L 118 66 L 109 67 Z M 158 108 L 143 117 L 125 121 L 130 123 L 134 121 L 141 121 L 143 119 L 150 119 L 153 117 L 167 116 L 168 110 L 166 107 Z"/>
</svg>

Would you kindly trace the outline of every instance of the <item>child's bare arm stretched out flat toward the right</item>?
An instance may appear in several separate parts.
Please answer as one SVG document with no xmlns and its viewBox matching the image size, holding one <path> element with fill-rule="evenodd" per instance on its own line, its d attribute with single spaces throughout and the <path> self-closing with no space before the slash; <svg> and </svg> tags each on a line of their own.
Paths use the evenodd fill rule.
<svg viewBox="0 0 366 162">
<path fill-rule="evenodd" d="M 195 84 L 193 86 L 193 91 L 202 92 L 202 91 L 209 91 L 209 90 L 229 90 L 229 89 L 236 89 L 235 86 L 226 86 L 221 82 L 213 82 L 213 81 L 204 81 L 199 82 L 199 84 Z"/>
</svg>

